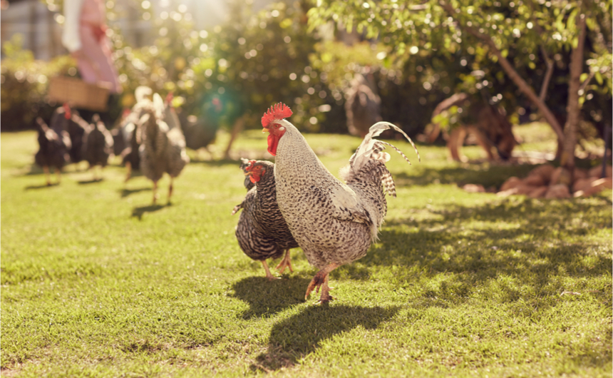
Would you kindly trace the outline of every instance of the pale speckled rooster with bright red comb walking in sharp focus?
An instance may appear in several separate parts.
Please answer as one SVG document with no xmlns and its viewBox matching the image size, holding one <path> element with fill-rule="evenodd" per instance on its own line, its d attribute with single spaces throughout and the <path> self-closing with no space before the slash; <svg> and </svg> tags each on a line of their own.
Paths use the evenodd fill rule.
<svg viewBox="0 0 613 378">
<path fill-rule="evenodd" d="M 264 131 L 269 132 L 268 152 L 276 156 L 274 179 L 277 203 L 294 239 L 304 250 L 309 264 L 319 269 L 306 289 L 306 298 L 321 289 L 320 303 L 329 295 L 328 275 L 341 265 L 366 255 L 377 239 L 378 228 L 386 215 L 385 194 L 396 196 L 396 187 L 385 163 L 386 145 L 373 139 L 389 128 L 403 131 L 388 122 L 371 126 L 349 165 L 341 170 L 346 183 L 334 177 L 321 163 L 298 129 L 284 118 L 292 116 L 288 106 L 278 103 L 262 116 Z M 408 163 L 411 163 L 408 161 Z"/>
</svg>

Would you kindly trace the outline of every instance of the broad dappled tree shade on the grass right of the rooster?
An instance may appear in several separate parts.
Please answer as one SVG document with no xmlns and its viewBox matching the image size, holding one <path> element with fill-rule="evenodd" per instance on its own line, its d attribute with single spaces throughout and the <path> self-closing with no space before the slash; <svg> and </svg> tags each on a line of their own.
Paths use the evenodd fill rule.
<svg viewBox="0 0 613 378">
<path fill-rule="evenodd" d="M 607 198 L 509 198 L 480 207 L 417 210 L 433 216 L 388 220 L 381 242 L 361 260 L 332 272 L 331 279 L 368 280 L 379 266 L 392 270 L 396 287 L 436 282 L 420 287 L 418 300 L 463 302 L 480 287 L 490 287 L 502 302 L 532 298 L 540 307 L 555 305 L 568 290 L 560 277 L 612 274 L 611 245 L 586 237 L 594 235 L 594 227 L 610 232 L 611 206 Z M 611 303 L 607 290 L 610 283 L 594 296 Z"/>
</svg>

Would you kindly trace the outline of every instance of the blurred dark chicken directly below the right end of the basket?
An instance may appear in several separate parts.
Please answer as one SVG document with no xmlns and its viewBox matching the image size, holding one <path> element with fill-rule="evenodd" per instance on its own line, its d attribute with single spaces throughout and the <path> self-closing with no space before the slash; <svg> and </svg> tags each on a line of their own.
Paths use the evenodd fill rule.
<svg viewBox="0 0 613 378">
<path fill-rule="evenodd" d="M 113 154 L 113 136 L 98 114 L 94 114 L 91 121 L 83 136 L 83 160 L 89 163 L 89 168 L 94 168 L 93 179 L 98 180 L 95 167 L 104 168 L 108 164 L 108 158 Z"/>
</svg>

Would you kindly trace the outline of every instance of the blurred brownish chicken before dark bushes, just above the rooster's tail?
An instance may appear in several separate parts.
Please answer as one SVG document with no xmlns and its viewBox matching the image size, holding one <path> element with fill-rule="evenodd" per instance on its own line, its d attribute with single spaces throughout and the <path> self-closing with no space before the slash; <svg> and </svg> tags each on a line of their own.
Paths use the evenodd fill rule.
<svg viewBox="0 0 613 378">
<path fill-rule="evenodd" d="M 347 128 L 351 135 L 364 138 L 369 128 L 381 121 L 381 98 L 376 93 L 373 74 L 367 73 L 365 77 L 358 73 L 351 81 L 347 95 Z"/>
</svg>

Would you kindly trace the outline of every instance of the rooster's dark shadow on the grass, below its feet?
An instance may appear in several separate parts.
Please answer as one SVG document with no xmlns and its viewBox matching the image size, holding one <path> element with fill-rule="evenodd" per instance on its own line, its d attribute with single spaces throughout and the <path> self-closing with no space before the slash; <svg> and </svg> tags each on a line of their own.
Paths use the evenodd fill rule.
<svg viewBox="0 0 613 378">
<path fill-rule="evenodd" d="M 399 307 L 361 307 L 334 305 L 305 307 L 304 311 L 272 327 L 268 350 L 251 365 L 254 371 L 269 372 L 292 367 L 314 352 L 322 342 L 357 327 L 374 330 L 391 320 Z"/>
</svg>

